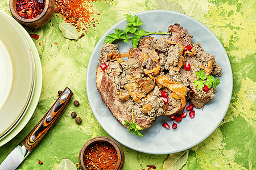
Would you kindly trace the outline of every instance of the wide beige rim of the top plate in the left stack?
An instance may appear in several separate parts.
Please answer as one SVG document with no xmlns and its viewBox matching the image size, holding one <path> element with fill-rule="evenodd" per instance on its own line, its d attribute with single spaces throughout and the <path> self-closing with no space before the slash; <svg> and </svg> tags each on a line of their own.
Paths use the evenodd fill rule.
<svg viewBox="0 0 256 170">
<path fill-rule="evenodd" d="M 13 71 L 10 91 L 0 108 L 1 137 L 16 123 L 27 107 L 34 85 L 34 70 L 30 48 L 19 29 L 3 14 L 0 14 L 0 23 L 5 25 L 0 27 L 0 41 L 8 54 L 5 56 L 10 57 Z"/>
</svg>

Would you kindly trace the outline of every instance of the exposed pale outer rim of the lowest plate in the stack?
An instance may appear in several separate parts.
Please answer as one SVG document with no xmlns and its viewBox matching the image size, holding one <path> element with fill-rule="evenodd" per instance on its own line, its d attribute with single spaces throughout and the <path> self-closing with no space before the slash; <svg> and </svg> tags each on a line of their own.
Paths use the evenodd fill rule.
<svg viewBox="0 0 256 170">
<path fill-rule="evenodd" d="M 22 35 L 25 37 L 28 45 L 30 46 L 32 57 L 34 58 L 35 62 L 35 82 L 34 82 L 34 93 L 32 93 L 30 104 L 26 108 L 26 112 L 22 119 L 20 119 L 19 123 L 14 127 L 11 128 L 10 133 L 7 134 L 5 137 L 0 138 L 0 146 L 4 145 L 5 143 L 9 142 L 13 139 L 23 128 L 26 126 L 27 122 L 32 117 L 33 113 L 35 112 L 36 106 L 38 105 L 39 97 L 41 94 L 42 88 L 42 67 L 40 62 L 40 57 L 38 54 L 38 50 L 31 39 L 30 35 L 28 35 L 26 29 L 22 27 L 16 20 L 14 20 L 10 15 L 7 15 L 5 12 L 0 11 L 0 14 L 5 15 L 18 29 L 22 32 Z"/>
</svg>

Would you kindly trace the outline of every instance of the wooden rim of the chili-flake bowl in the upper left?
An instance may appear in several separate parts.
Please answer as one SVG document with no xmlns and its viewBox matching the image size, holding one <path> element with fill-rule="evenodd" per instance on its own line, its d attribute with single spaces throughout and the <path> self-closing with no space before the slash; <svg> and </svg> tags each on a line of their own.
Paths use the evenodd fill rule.
<svg viewBox="0 0 256 170">
<path fill-rule="evenodd" d="M 15 1 L 15 3 L 14 3 Z M 49 2 L 50 1 L 53 1 L 53 0 L 46 0 L 46 6 L 44 6 L 44 10 L 42 11 L 41 14 L 39 14 L 36 18 L 32 18 L 32 19 L 26 19 L 26 18 L 23 18 L 21 16 L 19 16 L 18 12 L 16 11 L 16 2 L 17 0 L 10 0 L 9 1 L 9 4 L 10 4 L 10 10 L 11 10 L 11 14 L 16 18 L 18 19 L 19 21 L 21 22 L 25 22 L 25 23 L 32 23 L 32 22 L 35 22 L 41 18 L 43 18 L 44 15 L 46 15 L 46 12 L 49 8 Z M 15 7 L 14 7 L 15 6 Z"/>
</svg>

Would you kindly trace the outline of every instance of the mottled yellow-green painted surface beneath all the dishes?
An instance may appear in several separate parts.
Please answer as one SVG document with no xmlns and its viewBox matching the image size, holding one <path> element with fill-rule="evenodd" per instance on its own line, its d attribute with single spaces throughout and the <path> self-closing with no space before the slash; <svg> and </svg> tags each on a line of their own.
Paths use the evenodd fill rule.
<svg viewBox="0 0 256 170">
<path fill-rule="evenodd" d="M 188 162 L 182 169 L 255 169 L 255 1 L 249 0 L 116 0 L 92 2 L 98 23 L 78 41 L 61 34 L 53 17 L 52 23 L 35 29 L 40 37 L 34 40 L 43 70 L 42 94 L 31 120 L 10 142 L 0 147 L 0 162 L 30 132 L 54 101 L 57 91 L 72 89 L 74 100 L 47 137 L 18 169 L 52 169 L 63 158 L 78 163 L 79 151 L 88 139 L 109 136 L 98 124 L 86 96 L 86 67 L 100 37 L 125 14 L 165 9 L 183 12 L 210 28 L 224 45 L 233 71 L 233 94 L 228 112 L 220 126 L 199 145 L 189 149 Z M 10 14 L 9 0 L 0 1 L 0 10 Z M 171 23 L 170 23 L 171 24 Z M 0 25 L 1 27 L 3 25 Z M 95 30 L 95 31 L 94 31 Z M 32 33 L 30 29 L 27 29 Z M 43 40 L 39 45 L 39 40 Z M 55 45 L 55 41 L 58 43 Z M 70 116 L 76 111 L 82 118 L 77 125 Z M 122 146 L 125 152 L 123 169 L 147 169 L 147 164 L 162 169 L 168 155 L 151 155 Z M 38 160 L 44 164 L 39 165 Z"/>
</svg>

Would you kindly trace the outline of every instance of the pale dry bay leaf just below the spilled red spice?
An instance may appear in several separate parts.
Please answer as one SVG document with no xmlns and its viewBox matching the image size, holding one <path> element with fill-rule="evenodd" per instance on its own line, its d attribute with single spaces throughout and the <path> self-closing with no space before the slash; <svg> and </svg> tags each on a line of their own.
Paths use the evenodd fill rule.
<svg viewBox="0 0 256 170">
<path fill-rule="evenodd" d="M 79 38 L 78 31 L 74 25 L 69 23 L 60 23 L 59 28 L 65 38 L 74 40 Z"/>
</svg>

